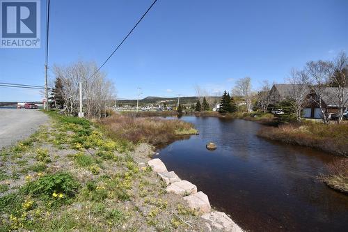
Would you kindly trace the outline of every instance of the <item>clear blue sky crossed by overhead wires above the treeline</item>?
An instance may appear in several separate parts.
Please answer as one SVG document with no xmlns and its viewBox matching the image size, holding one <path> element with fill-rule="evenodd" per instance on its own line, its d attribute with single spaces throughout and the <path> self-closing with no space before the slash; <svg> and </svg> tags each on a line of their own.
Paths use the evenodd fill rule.
<svg viewBox="0 0 348 232">
<path fill-rule="evenodd" d="M 101 65 L 151 0 L 51 0 L 49 66 Z M 211 95 L 237 79 L 282 83 L 291 68 L 348 52 L 346 0 L 158 0 L 102 68 L 118 98 Z M 46 1 L 41 48 L 0 49 L 0 82 L 44 85 Z M 54 74 L 49 70 L 49 79 Z M 37 90 L 0 87 L 0 101 L 42 100 Z"/>
</svg>

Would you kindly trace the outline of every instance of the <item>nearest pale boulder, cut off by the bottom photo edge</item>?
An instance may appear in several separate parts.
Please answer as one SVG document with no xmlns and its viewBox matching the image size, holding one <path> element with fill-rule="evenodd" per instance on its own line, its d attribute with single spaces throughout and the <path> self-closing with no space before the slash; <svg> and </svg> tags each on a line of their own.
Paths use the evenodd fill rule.
<svg viewBox="0 0 348 232">
<path fill-rule="evenodd" d="M 243 232 L 225 212 L 209 212 L 201 217 L 207 221 L 206 226 L 209 231 L 218 229 L 219 231 Z"/>
</svg>

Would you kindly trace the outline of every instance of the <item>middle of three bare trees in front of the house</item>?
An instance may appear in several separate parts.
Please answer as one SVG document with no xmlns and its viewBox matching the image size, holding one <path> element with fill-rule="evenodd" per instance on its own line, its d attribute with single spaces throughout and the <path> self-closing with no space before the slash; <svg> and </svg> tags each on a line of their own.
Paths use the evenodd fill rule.
<svg viewBox="0 0 348 232">
<path fill-rule="evenodd" d="M 323 99 L 330 97 L 326 87 L 329 79 L 332 77 L 332 66 L 333 64 L 327 61 L 310 61 L 306 64 L 306 72 L 311 78 L 312 83 L 310 88 L 315 93 L 310 94 L 310 98 L 319 106 L 322 112 L 322 120 L 325 124 L 329 123 L 329 113 Z"/>
</svg>

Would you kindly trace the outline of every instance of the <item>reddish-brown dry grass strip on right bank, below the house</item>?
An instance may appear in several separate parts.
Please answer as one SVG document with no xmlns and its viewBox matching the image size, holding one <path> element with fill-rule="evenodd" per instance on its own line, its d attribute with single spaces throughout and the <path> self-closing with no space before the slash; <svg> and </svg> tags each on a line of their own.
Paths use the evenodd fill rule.
<svg viewBox="0 0 348 232">
<path fill-rule="evenodd" d="M 261 137 L 318 148 L 335 155 L 348 155 L 348 124 L 302 123 L 264 128 Z"/>
</svg>

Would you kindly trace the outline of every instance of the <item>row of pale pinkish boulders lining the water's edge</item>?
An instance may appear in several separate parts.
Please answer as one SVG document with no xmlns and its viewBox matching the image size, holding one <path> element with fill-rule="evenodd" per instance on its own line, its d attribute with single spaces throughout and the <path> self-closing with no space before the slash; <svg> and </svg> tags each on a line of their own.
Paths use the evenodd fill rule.
<svg viewBox="0 0 348 232">
<path fill-rule="evenodd" d="M 187 206 L 202 214 L 208 231 L 216 229 L 221 231 L 243 231 L 225 212 L 212 211 L 208 196 L 202 191 L 197 192 L 196 185 L 187 180 L 181 180 L 174 171 L 168 171 L 166 165 L 158 158 L 148 161 L 148 165 L 166 183 L 166 192 L 183 196 Z"/>
</svg>

